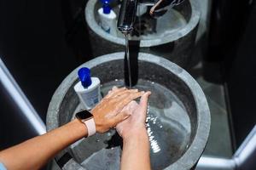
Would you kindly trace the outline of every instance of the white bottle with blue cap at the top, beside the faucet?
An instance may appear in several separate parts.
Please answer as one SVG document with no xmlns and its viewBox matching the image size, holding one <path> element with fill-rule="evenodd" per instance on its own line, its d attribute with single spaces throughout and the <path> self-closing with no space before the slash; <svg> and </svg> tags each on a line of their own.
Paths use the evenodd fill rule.
<svg viewBox="0 0 256 170">
<path fill-rule="evenodd" d="M 110 7 L 109 0 L 102 0 L 102 8 L 98 9 L 98 14 L 100 16 L 100 25 L 102 30 L 108 32 L 109 34 L 116 36 L 116 14 Z"/>
</svg>

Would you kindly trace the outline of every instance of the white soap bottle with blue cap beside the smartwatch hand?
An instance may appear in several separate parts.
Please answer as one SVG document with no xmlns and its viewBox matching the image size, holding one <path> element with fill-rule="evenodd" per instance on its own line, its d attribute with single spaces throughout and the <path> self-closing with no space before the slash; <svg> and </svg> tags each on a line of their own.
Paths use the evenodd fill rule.
<svg viewBox="0 0 256 170">
<path fill-rule="evenodd" d="M 90 77 L 90 69 L 86 67 L 79 69 L 78 74 L 80 81 L 74 86 L 74 90 L 84 108 L 90 110 L 102 99 L 101 81 L 98 77 Z"/>
</svg>

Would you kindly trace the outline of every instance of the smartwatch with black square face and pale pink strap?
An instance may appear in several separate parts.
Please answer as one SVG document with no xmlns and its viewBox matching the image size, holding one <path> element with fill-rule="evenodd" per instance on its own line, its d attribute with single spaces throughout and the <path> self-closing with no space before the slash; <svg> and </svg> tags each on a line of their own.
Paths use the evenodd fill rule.
<svg viewBox="0 0 256 170">
<path fill-rule="evenodd" d="M 79 119 L 80 122 L 83 122 L 87 127 L 87 137 L 96 133 L 96 124 L 94 122 L 93 115 L 90 113 L 90 111 L 80 111 L 76 113 L 76 118 Z"/>
</svg>

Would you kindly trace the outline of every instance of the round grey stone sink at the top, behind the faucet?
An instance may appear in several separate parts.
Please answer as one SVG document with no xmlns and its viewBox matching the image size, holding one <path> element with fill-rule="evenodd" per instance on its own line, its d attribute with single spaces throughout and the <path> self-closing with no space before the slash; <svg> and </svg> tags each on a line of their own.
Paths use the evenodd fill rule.
<svg viewBox="0 0 256 170">
<path fill-rule="evenodd" d="M 118 1 L 112 2 L 113 11 L 118 15 Z M 102 30 L 97 13 L 101 7 L 100 1 L 89 0 L 84 10 L 94 57 L 125 51 L 125 37 L 118 30 L 117 35 Z M 153 19 L 147 12 L 137 18 L 133 34 L 140 33 L 130 37 L 130 44 L 140 52 L 165 57 L 183 68 L 189 67 L 199 20 L 200 10 L 195 0 L 184 1 L 158 19 Z"/>
</svg>

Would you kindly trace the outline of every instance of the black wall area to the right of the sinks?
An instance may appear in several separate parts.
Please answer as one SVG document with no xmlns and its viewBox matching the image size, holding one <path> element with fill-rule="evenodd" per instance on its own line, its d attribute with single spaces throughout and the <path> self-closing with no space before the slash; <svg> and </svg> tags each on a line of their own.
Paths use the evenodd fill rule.
<svg viewBox="0 0 256 170">
<path fill-rule="evenodd" d="M 230 122 L 233 124 L 230 130 L 234 130 L 236 147 L 256 122 L 255 31 L 255 1 L 212 1 L 208 51 L 204 58 L 205 78 L 224 83 L 226 87 Z M 217 71 L 221 77 L 214 75 Z"/>
</svg>

